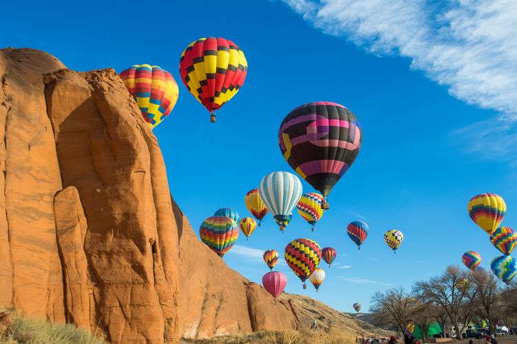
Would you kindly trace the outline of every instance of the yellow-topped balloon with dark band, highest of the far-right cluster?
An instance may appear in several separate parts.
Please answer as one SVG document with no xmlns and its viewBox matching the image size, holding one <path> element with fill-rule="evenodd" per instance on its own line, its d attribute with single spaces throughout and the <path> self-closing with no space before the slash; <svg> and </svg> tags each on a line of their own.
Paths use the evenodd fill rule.
<svg viewBox="0 0 517 344">
<path fill-rule="evenodd" d="M 494 193 L 481 193 L 472 197 L 467 205 L 469 216 L 488 235 L 492 235 L 506 213 L 505 200 Z"/>
</svg>

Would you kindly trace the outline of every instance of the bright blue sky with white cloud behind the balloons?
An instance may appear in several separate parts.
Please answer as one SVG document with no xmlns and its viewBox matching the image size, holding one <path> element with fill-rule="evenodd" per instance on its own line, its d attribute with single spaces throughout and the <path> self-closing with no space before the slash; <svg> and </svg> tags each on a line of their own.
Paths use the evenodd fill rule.
<svg viewBox="0 0 517 344">
<path fill-rule="evenodd" d="M 309 0 L 70 3 L 10 1 L 0 23 L 2 47 L 34 47 L 71 69 L 152 63 L 179 83 L 172 114 L 156 129 L 170 189 L 196 233 L 205 217 L 230 206 L 249 216 L 247 191 L 271 171 L 292 171 L 278 149 L 281 120 L 316 100 L 345 105 L 363 127 L 363 147 L 330 195 L 330 211 L 314 233 L 297 213 L 285 233 L 268 215 L 225 261 L 252 281 L 267 272 L 261 252 L 283 252 L 310 237 L 333 246 L 316 294 L 287 268 L 287 292 L 307 294 L 338 310 L 369 307 L 377 290 L 412 282 L 460 264 L 466 250 L 498 256 L 468 217 L 470 197 L 502 195 L 517 221 L 515 4 L 438 1 Z M 446 4 L 446 5 L 445 5 Z M 438 6 L 439 5 L 439 6 Z M 508 14 L 509 13 L 509 14 Z M 387 17 L 385 17 L 387 16 Z M 479 27 L 482 25 L 482 27 Z M 217 123 L 181 83 L 179 56 L 202 36 L 238 44 L 249 69 L 239 94 L 218 111 Z M 303 182 L 305 192 L 313 191 Z M 515 211 L 514 211 L 515 210 Z M 369 237 L 361 251 L 345 228 L 361 219 Z M 397 255 L 383 241 L 402 230 Z M 195 259 L 195 257 L 193 257 Z"/>
</svg>

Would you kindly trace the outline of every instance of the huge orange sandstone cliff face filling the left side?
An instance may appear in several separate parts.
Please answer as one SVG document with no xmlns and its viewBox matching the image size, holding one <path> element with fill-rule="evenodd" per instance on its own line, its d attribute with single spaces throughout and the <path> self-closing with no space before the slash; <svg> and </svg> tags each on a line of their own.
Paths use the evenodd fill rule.
<svg viewBox="0 0 517 344">
<path fill-rule="evenodd" d="M 0 77 L 1 307 L 119 343 L 298 326 L 194 235 L 113 69 L 9 48 Z"/>
</svg>

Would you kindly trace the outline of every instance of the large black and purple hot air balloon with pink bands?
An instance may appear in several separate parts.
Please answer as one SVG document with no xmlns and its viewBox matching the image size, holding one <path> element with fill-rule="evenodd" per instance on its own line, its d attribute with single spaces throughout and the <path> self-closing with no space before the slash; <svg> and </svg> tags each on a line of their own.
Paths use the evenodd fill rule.
<svg viewBox="0 0 517 344">
<path fill-rule="evenodd" d="M 329 102 L 297 107 L 278 131 L 285 160 L 324 197 L 356 160 L 362 138 L 361 125 L 352 111 Z M 328 208 L 326 198 L 322 208 Z"/>
</svg>

